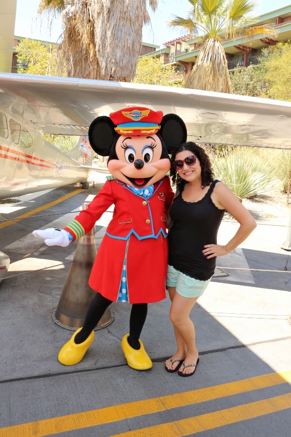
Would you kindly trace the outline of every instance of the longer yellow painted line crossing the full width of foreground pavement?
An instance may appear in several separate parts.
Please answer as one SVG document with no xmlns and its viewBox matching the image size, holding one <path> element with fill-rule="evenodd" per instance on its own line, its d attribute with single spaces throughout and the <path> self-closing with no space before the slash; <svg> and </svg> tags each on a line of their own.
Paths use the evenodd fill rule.
<svg viewBox="0 0 291 437">
<path fill-rule="evenodd" d="M 225 396 L 258 390 L 260 388 L 272 387 L 286 382 L 291 382 L 291 370 L 270 373 L 241 381 L 213 387 L 199 388 L 197 390 L 161 396 L 158 398 L 145 399 L 143 401 L 123 403 L 120 405 L 99 408 L 97 410 L 9 426 L 0 429 L 0 437 L 49 436 L 56 433 L 82 429 L 89 426 L 97 426 L 117 420 L 124 420 L 130 417 L 138 417 L 144 414 L 152 414 L 184 405 L 206 402 Z M 135 434 L 133 435 L 135 436 Z M 161 435 L 167 434 L 162 433 L 160 436 Z M 176 435 L 176 437 L 177 436 L 178 435 Z"/>
</svg>

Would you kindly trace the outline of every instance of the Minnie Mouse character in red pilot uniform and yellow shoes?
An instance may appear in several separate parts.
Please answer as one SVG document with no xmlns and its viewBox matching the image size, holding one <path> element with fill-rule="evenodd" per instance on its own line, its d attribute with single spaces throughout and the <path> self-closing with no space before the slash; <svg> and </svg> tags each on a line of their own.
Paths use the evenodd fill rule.
<svg viewBox="0 0 291 437">
<path fill-rule="evenodd" d="M 89 127 L 92 149 L 109 156 L 112 176 L 88 208 L 65 229 L 33 231 L 48 246 L 68 246 L 88 233 L 102 214 L 114 204 L 90 274 L 89 286 L 97 291 L 84 325 L 61 349 L 58 359 L 73 365 L 81 361 L 94 339 L 94 328 L 113 302 L 132 304 L 129 334 L 121 347 L 130 367 L 152 367 L 140 335 L 146 321 L 147 304 L 166 297 L 167 231 L 165 212 L 173 191 L 166 173 L 168 152 L 186 141 L 186 126 L 174 114 L 144 107 L 129 107 L 109 117 L 97 117 Z"/>
</svg>

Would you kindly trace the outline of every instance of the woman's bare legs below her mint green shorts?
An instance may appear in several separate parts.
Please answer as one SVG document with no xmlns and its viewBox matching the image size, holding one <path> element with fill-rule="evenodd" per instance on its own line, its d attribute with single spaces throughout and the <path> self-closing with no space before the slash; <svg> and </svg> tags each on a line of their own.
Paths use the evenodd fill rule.
<svg viewBox="0 0 291 437">
<path fill-rule="evenodd" d="M 198 359 L 198 351 L 195 344 L 194 324 L 189 318 L 190 311 L 192 310 L 197 299 L 197 297 L 185 298 L 183 296 L 180 296 L 176 290 L 172 297 L 170 320 L 174 325 L 175 336 L 178 346 L 177 353 L 182 352 L 182 347 L 184 347 L 185 351 L 186 345 L 187 354 L 186 358 L 184 359 L 185 366 L 187 366 L 188 364 L 195 364 Z M 181 356 L 179 358 L 181 358 Z M 187 368 L 184 370 L 184 373 L 193 373 L 194 369 L 194 367 Z"/>
</svg>

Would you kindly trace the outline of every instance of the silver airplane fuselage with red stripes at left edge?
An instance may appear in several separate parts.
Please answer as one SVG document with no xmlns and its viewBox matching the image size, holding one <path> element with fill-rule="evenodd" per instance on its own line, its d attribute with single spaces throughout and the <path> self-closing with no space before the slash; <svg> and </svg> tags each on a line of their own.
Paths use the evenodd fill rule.
<svg viewBox="0 0 291 437">
<path fill-rule="evenodd" d="M 79 140 L 75 147 L 60 151 L 45 140 L 47 132 L 38 122 L 39 111 L 49 109 L 42 106 L 41 85 L 36 92 L 25 91 L 22 79 L 15 81 L 17 75 L 11 75 L 12 80 L 0 76 L 0 199 L 85 182 L 93 157 L 87 131 L 76 128 L 74 135 L 79 135 Z M 61 123 L 61 100 L 51 106 L 55 111 L 48 118 Z"/>
</svg>

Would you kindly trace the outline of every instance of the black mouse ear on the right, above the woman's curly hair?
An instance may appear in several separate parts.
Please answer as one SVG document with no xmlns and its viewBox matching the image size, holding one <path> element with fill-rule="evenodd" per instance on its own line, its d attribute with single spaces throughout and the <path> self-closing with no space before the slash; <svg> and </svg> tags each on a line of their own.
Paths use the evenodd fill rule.
<svg viewBox="0 0 291 437">
<path fill-rule="evenodd" d="M 159 134 L 162 136 L 168 151 L 176 149 L 179 144 L 187 141 L 187 128 L 176 114 L 166 114 L 162 118 Z"/>
</svg>

